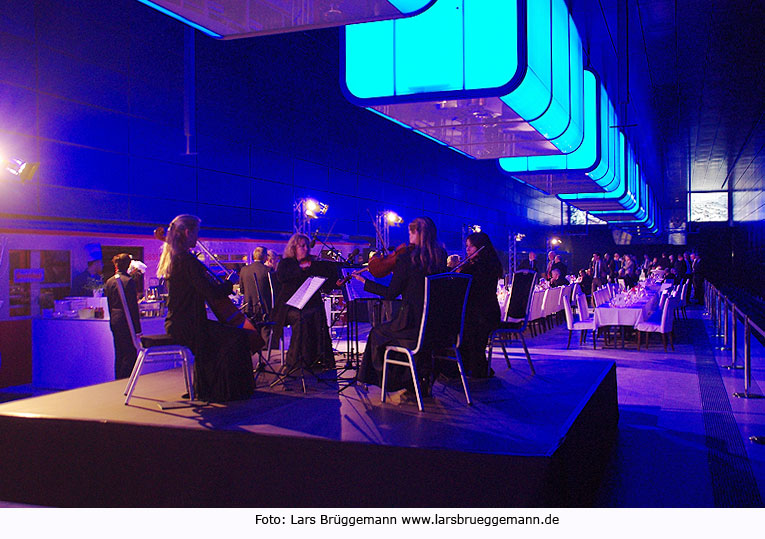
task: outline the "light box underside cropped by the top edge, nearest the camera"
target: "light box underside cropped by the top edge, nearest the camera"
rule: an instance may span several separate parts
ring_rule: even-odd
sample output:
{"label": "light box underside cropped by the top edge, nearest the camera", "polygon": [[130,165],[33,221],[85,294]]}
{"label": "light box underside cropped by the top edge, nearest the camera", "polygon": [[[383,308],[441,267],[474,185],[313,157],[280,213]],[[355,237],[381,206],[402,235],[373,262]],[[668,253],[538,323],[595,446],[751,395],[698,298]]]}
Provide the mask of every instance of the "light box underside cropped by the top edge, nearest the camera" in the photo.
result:
{"label": "light box underside cropped by the top edge, nearest the camera", "polygon": [[138,0],[222,39],[298,32],[414,15],[435,0]]}

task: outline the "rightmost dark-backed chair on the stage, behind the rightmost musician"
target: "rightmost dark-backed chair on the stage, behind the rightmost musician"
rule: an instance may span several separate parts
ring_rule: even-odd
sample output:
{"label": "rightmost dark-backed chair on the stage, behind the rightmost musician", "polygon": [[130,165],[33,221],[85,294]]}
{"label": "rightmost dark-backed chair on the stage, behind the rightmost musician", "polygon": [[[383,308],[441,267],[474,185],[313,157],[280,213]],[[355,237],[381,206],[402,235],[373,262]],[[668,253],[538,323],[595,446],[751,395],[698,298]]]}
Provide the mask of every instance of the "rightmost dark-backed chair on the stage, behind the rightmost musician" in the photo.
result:
{"label": "rightmost dark-backed chair on the stage, behind the rightmost musician", "polygon": [[494,356],[494,346],[499,344],[502,347],[502,353],[505,355],[507,368],[510,368],[510,357],[507,355],[505,343],[509,342],[514,335],[518,335],[523,345],[523,351],[526,353],[526,360],[529,362],[531,373],[536,374],[534,365],[531,363],[531,355],[526,346],[526,338],[523,332],[529,325],[529,319],[532,312],[532,299],[541,297],[541,293],[534,293],[534,286],[537,283],[537,274],[530,270],[519,270],[513,275],[513,288],[510,294],[510,303],[507,308],[505,318],[499,323],[499,327],[489,335],[489,366]]}

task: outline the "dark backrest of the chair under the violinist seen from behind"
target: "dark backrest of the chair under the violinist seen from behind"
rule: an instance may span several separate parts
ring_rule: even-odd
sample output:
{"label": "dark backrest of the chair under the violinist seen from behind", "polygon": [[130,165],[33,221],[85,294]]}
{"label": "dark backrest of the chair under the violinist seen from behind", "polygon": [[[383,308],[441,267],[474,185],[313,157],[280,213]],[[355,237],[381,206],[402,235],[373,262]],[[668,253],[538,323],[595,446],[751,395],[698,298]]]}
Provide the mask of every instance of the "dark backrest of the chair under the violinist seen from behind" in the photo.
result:
{"label": "dark backrest of the chair under the violinist seen from behind", "polygon": [[459,346],[472,277],[439,273],[425,277],[425,302],[414,353],[422,349]]}

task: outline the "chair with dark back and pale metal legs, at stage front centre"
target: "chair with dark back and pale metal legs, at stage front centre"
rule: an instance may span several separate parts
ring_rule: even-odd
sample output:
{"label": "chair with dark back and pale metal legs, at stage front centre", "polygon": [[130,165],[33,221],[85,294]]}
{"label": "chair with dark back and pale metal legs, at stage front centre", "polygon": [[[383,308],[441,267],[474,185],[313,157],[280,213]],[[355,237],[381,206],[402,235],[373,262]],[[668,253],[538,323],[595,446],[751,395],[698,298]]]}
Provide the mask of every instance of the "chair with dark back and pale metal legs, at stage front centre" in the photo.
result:
{"label": "chair with dark back and pale metal legs, at stage front centre", "polygon": [[[462,273],[440,273],[425,277],[425,301],[420,319],[420,331],[414,347],[409,348],[403,343],[385,347],[380,394],[382,402],[385,402],[387,393],[385,381],[388,365],[400,365],[409,368],[417,396],[417,407],[421,412],[423,411],[422,391],[415,362],[415,358],[420,355],[425,361],[432,361],[434,358],[456,361],[462,379],[462,388],[465,391],[465,400],[467,404],[473,403],[459,351],[471,280],[470,275]],[[394,359],[392,355],[394,353],[397,353],[399,357],[403,355],[406,359]]]}

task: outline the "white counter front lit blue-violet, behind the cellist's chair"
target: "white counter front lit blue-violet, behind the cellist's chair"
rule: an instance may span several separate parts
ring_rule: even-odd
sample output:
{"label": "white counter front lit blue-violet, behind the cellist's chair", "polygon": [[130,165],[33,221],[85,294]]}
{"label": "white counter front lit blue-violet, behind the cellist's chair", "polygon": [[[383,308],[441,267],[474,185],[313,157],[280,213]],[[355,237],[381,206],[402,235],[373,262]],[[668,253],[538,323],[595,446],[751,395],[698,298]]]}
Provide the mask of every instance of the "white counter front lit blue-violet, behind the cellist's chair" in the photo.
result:
{"label": "white counter front lit blue-violet, behind the cellist's chair", "polygon": [[[146,335],[165,332],[164,318],[143,318]],[[147,365],[144,372],[168,368]],[[114,380],[114,341],[108,320],[35,318],[32,320],[32,385],[74,389]]]}

